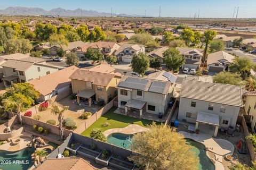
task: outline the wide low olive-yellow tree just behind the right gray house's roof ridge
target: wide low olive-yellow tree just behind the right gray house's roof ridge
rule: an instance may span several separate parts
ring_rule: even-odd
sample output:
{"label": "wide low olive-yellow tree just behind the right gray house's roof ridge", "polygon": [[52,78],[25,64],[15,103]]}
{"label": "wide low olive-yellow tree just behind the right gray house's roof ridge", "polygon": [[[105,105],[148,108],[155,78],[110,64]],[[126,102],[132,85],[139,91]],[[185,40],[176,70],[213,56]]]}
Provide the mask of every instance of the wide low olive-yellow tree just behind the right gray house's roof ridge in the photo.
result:
{"label": "wide low olive-yellow tree just behind the right gray house's roof ridge", "polygon": [[240,85],[241,76],[238,73],[220,72],[213,78],[213,82],[231,85]]}

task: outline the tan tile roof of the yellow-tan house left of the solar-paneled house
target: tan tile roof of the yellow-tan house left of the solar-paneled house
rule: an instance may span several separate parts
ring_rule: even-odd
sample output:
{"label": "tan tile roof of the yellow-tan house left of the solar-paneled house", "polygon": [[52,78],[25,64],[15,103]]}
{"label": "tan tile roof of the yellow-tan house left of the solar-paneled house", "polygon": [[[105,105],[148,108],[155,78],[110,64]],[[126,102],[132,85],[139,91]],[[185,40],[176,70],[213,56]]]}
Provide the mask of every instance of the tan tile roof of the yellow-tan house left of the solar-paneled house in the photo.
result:
{"label": "tan tile roof of the yellow-tan house left of the solar-paneled house", "polygon": [[77,69],[73,74],[70,75],[69,78],[81,81],[89,81],[99,86],[108,86],[108,84],[114,77],[115,74]]}

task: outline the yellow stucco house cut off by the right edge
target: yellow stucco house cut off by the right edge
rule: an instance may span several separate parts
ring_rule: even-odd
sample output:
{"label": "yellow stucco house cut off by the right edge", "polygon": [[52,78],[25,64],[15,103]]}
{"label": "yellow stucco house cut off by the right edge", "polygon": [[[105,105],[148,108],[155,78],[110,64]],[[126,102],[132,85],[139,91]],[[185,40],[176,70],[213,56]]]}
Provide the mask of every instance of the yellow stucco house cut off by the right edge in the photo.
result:
{"label": "yellow stucco house cut off by the right edge", "polygon": [[248,91],[243,94],[244,100],[244,117],[248,117],[250,119],[251,129],[254,133],[256,133],[256,92]]}

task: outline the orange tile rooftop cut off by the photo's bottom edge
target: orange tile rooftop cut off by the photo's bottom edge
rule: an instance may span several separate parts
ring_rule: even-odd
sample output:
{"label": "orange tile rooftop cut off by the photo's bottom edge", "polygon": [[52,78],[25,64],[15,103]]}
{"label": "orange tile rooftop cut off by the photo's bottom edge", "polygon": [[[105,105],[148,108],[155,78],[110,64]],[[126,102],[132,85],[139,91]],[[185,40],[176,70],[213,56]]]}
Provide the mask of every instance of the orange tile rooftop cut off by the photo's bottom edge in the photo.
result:
{"label": "orange tile rooftop cut off by the photo's bottom edge", "polygon": [[82,158],[46,159],[38,170],[96,170]]}

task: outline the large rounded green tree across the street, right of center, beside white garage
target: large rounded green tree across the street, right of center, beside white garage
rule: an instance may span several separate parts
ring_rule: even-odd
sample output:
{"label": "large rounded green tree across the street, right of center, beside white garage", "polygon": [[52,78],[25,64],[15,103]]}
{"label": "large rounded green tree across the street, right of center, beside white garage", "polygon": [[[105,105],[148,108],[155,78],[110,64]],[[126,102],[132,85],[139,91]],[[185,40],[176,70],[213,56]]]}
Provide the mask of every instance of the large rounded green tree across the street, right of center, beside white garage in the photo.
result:
{"label": "large rounded green tree across the street, right of center, beside white garage", "polygon": [[168,48],[164,53],[164,63],[167,69],[172,70],[172,73],[178,72],[179,67],[185,63],[185,57],[180,55],[180,52],[175,48]]}

